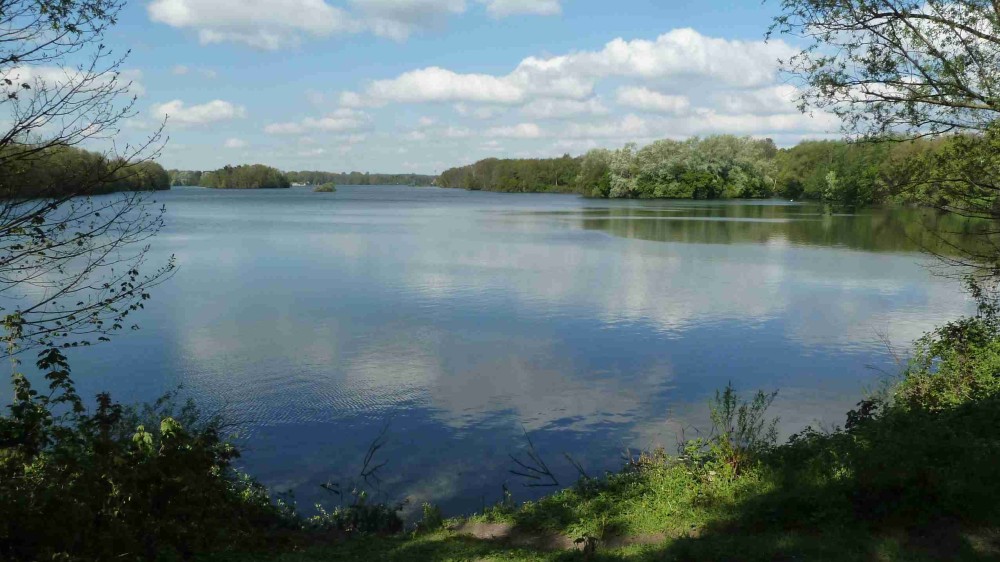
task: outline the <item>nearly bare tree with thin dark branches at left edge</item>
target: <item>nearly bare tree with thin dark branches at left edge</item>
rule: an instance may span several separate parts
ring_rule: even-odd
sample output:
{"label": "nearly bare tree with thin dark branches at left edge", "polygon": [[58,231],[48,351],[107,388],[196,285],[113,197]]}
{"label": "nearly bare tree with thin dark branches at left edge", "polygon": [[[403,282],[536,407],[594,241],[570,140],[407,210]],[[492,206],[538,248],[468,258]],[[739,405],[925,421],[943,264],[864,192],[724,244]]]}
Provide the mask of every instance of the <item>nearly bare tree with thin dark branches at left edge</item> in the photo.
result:
{"label": "nearly bare tree with thin dark branches at left edge", "polygon": [[[134,114],[125,56],[103,44],[120,0],[0,0],[0,356],[89,344],[121,329],[172,260],[140,273],[162,208],[139,192],[94,196],[149,173],[160,131],[115,141]],[[162,128],[161,128],[162,129]],[[108,146],[71,166],[53,153]],[[70,153],[66,153],[70,154]],[[34,189],[21,184],[32,175]]]}

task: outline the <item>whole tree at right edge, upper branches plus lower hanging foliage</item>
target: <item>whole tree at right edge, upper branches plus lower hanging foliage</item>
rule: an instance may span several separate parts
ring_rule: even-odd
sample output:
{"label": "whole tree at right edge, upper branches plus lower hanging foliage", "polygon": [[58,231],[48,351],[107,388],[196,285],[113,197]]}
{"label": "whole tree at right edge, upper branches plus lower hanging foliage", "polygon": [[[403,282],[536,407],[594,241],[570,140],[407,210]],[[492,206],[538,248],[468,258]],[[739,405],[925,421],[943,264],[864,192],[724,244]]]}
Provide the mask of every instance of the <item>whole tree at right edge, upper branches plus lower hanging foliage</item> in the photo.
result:
{"label": "whole tree at right edge, upper branches plus lower hanging foliage", "polygon": [[[809,44],[785,61],[804,110],[832,111],[861,139],[954,134],[911,189],[973,219],[952,263],[1000,280],[1000,2],[783,0],[771,32]],[[975,221],[980,221],[976,223]]]}

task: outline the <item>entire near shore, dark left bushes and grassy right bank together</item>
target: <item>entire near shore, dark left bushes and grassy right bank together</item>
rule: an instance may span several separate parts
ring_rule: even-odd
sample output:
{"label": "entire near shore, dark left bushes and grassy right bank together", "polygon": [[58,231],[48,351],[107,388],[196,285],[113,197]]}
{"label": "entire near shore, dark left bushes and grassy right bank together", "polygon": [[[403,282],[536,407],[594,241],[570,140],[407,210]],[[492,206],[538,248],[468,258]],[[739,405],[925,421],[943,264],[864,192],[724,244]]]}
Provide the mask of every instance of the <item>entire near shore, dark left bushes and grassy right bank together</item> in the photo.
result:
{"label": "entire near shore, dark left bushes and grassy right bank together", "polygon": [[[55,390],[71,388],[61,356],[42,365]],[[129,411],[105,396],[88,413],[72,392],[56,392],[73,407],[53,417],[45,394],[18,384],[0,418],[4,559],[1000,559],[992,301],[920,340],[899,380],[841,427],[778,444],[773,395],[742,399],[730,387],[710,406],[708,437],[679,451],[649,451],[619,472],[468,517],[445,521],[425,506],[415,529],[398,506],[370,503],[363,486],[336,489],[343,502],[330,511],[296,514],[233,470],[238,451],[220,420],[193,410]],[[538,457],[524,462],[544,471]]]}

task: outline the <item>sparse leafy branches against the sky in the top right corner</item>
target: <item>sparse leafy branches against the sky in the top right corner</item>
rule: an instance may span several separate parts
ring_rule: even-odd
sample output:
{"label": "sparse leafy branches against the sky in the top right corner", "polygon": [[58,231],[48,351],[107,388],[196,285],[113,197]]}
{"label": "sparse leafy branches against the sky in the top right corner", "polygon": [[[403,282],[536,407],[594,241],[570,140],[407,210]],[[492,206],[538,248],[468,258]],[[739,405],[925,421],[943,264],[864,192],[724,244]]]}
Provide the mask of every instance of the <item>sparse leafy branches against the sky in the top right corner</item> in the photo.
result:
{"label": "sparse leafy branches against the sky in the top right corner", "polygon": [[989,0],[783,0],[772,32],[804,107],[875,138],[982,131],[998,117],[1000,11]]}

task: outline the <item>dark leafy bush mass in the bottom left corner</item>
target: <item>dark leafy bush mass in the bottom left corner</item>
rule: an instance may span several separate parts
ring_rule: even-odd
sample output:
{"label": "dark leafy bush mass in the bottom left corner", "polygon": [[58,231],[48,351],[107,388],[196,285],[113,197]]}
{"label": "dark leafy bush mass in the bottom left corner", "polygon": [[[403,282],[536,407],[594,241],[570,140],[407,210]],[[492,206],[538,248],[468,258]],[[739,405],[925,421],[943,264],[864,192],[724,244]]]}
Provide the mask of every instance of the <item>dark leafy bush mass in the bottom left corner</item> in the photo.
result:
{"label": "dark leafy bush mass in the bottom left corner", "polygon": [[0,417],[0,557],[168,560],[267,541],[293,514],[232,468],[220,419],[173,397],[145,410],[101,394],[92,413],[58,350],[49,392],[15,376]]}

